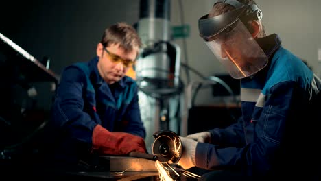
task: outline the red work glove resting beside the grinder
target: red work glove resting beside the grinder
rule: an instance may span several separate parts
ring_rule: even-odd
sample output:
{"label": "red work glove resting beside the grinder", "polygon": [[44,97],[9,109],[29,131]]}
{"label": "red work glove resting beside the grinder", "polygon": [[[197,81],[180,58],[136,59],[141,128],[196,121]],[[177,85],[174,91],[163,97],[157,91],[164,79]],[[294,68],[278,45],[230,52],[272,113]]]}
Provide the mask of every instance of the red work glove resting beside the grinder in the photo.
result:
{"label": "red work glove resting beside the grinder", "polygon": [[111,155],[126,155],[132,151],[147,153],[143,138],[126,132],[109,132],[102,125],[96,125],[93,130],[93,151]]}

